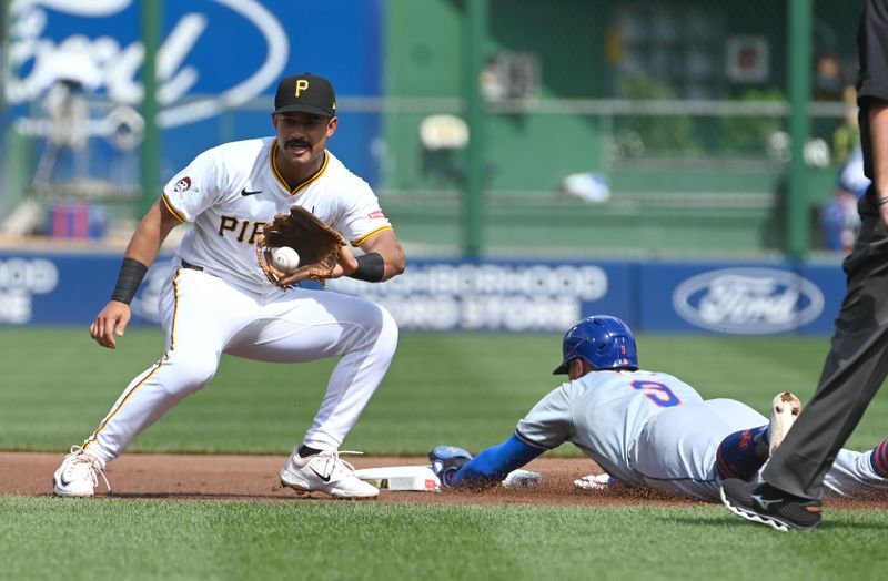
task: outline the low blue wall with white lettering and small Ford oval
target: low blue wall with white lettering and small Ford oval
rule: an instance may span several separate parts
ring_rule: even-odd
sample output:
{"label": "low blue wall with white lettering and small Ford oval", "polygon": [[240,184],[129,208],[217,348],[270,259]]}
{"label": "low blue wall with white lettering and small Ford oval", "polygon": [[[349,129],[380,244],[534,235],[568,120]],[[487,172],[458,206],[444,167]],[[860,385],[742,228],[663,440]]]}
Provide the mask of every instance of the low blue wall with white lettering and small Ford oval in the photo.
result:
{"label": "low blue wall with white lettering and small Ford oval", "polygon": [[[149,271],[134,324],[158,324],[169,263]],[[0,324],[88,325],[119,265],[120,256],[0,252]],[[382,304],[402,330],[563,333],[606,313],[642,333],[829,334],[845,276],[838,264],[426,258],[387,283],[329,288]]]}

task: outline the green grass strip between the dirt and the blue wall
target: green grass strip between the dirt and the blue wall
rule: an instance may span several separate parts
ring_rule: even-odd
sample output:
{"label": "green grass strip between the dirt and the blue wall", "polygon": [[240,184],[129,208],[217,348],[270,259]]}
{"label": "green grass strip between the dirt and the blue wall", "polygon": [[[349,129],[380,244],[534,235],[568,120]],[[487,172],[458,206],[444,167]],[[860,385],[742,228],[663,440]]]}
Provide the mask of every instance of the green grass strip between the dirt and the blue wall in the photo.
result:
{"label": "green grass strip between the dirt and the blue wall", "polygon": [[[82,329],[0,329],[0,449],[59,451],[82,441],[129,380],[162,351],[157,329],[127,333],[117,350]],[[555,335],[405,334],[389,374],[345,447],[422,455],[437,444],[478,449],[505,439],[562,377]],[[828,340],[639,336],[646,369],[672,373],[707,398],[766,412],[778,391],[807,400]],[[36,353],[42,355],[36,356]],[[284,453],[317,411],[332,360],[260,364],[223,357],[213,381],[134,441],[133,451]],[[767,414],[765,414],[767,415]],[[888,437],[888,393],[848,446]],[[566,446],[557,453],[576,453]]]}

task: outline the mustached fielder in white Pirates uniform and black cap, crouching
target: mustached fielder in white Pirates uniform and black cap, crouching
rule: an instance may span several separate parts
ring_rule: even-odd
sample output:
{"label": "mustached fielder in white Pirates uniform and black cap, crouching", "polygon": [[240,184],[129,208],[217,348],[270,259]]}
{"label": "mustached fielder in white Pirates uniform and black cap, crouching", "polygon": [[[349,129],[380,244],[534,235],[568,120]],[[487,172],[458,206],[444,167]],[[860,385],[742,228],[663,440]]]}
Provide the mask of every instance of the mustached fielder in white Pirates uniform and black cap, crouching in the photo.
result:
{"label": "mustached fielder in white Pirates uniform and black cap, crouching", "polygon": [[192,223],[161,295],[165,351],[130,383],[84,444],[72,448],[54,473],[56,495],[93,495],[105,465],[204,387],[223,353],[275,363],[341,357],[281,482],[334,497],[379,493],[353,476],[339,448],[389,368],[395,322],[361,298],[280,288],[256,259],[263,224],[300,205],[363,251],[355,257],[344,249],[333,278],[381,282],[404,271],[404,253],[373,191],[326,150],[335,113],[329,81],[309,73],[285,77],[272,113],[275,136],[205,151],[165,185],[130,241],[111,302],[90,326],[95,342],[115,347],[130,320],[130,300],[162,242],[176,225]]}

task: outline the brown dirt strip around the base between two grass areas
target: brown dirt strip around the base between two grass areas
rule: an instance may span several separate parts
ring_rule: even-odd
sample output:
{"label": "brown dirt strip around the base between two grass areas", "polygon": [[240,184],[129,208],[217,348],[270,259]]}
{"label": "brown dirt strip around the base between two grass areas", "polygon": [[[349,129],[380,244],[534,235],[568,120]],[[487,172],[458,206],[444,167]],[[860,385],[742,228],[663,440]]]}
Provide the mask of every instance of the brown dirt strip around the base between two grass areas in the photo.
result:
{"label": "brown dirt strip around the base between two grass areas", "polygon": [[[0,452],[0,495],[50,496],[52,472],[63,455]],[[159,498],[203,500],[329,501],[323,493],[296,495],[282,487],[278,472],[283,456],[194,456],[128,453],[109,465],[112,491],[100,482],[98,498]],[[424,458],[349,457],[355,468],[422,465]],[[639,503],[694,504],[693,500],[669,498],[648,490],[584,491],[574,488],[574,479],[602,470],[585,459],[539,458],[525,467],[543,475],[542,490],[484,492],[444,490],[443,492],[382,492],[380,502],[422,504],[555,504],[627,506]],[[830,500],[836,508],[875,508],[888,510],[888,498],[868,501]]]}

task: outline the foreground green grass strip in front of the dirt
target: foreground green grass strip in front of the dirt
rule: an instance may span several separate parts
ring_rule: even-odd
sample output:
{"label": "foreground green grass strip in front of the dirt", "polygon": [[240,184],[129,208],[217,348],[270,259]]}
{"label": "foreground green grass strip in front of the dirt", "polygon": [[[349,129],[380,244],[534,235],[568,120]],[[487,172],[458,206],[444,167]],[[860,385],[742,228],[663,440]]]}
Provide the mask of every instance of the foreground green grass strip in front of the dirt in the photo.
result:
{"label": "foreground green grass strip in front of the dirt", "polygon": [[[881,514],[817,533],[687,508],[0,497],[7,579],[880,579]],[[654,533],[653,531],[656,531]],[[39,564],[38,564],[39,563]]]}

